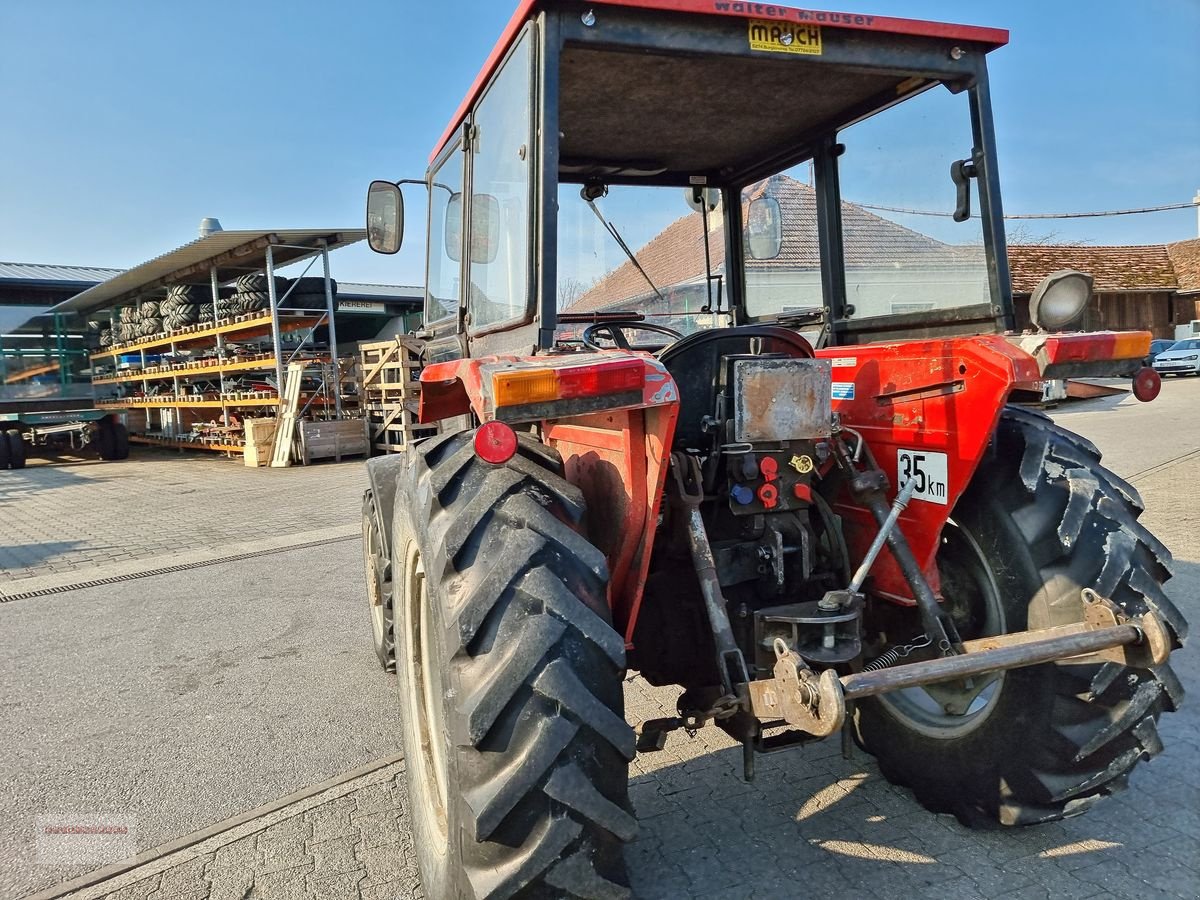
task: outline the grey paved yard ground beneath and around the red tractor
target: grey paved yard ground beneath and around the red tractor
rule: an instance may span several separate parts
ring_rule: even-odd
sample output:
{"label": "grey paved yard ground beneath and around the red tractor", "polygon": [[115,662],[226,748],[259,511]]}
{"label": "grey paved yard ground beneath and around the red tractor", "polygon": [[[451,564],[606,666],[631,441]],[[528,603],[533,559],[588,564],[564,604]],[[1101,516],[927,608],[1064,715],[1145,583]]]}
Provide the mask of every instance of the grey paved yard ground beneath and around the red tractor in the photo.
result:
{"label": "grey paved yard ground beneath and around the red tractor", "polygon": [[[1193,623],[1200,623],[1198,404],[1200,379],[1169,380],[1153,404],[1100,401],[1055,414],[1097,442],[1108,464],[1142,492],[1142,521],[1175,553],[1168,593]],[[154,510],[202,522],[202,510],[220,498],[241,516],[226,532],[228,545],[257,539],[256,521],[277,523],[282,536],[252,557],[0,602],[8,649],[0,658],[0,734],[14,736],[0,754],[0,896],[52,888],[118,860],[68,866],[46,858],[47,815],[124,816],[134,824],[124,854],[132,856],[396,750],[394,682],[370,653],[359,548],[348,539],[361,463],[263,473],[148,456],[126,476],[119,467],[103,478],[90,468],[78,474],[100,481],[108,508],[88,520],[91,532],[40,494],[77,505],[95,493],[61,473],[0,474],[6,526],[32,535],[38,526],[25,521],[29,510],[53,514],[59,541],[71,545],[41,564],[30,560],[20,580],[0,580],[0,590],[20,595],[22,583],[86,577],[96,563],[85,545],[114,540],[134,556],[103,565],[157,571],[169,557],[155,550],[164,529],[133,521]],[[5,481],[14,475],[16,488]],[[130,484],[148,479],[160,487]],[[187,493],[166,491],[167,480]],[[222,550],[220,518],[212,521],[196,529],[203,539],[190,552],[200,562],[206,552],[236,556]],[[106,530],[106,522],[116,524]],[[308,547],[302,535],[314,528],[343,539]],[[7,544],[7,527],[2,534]],[[288,550],[288,535],[305,547]],[[47,571],[50,559],[61,571]],[[1194,643],[1172,660],[1184,685],[1200,683]],[[673,704],[673,691],[637,677],[626,684],[632,721],[667,715]],[[1139,767],[1130,791],[1079,818],[986,833],[925,812],[870,757],[842,760],[836,743],[760,757],[756,781],[745,785],[740,751],[720,732],[672,734],[664,752],[638,757],[631,770],[641,821],[626,853],[635,895],[1198,898],[1196,701],[1165,716],[1160,733],[1165,751]],[[204,835],[76,895],[421,896],[401,768]]]}

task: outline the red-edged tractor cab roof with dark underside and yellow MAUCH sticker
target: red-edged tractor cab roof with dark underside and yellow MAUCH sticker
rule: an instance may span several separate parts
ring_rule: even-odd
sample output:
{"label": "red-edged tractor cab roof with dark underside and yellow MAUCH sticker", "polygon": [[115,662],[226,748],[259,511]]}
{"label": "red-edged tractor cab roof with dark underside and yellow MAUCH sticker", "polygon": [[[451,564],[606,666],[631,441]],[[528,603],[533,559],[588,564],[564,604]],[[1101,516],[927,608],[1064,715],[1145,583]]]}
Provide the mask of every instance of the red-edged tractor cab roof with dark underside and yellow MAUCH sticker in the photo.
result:
{"label": "red-edged tractor cab roof with dark underside and yellow MAUCH sticker", "polygon": [[563,13],[545,78],[559,175],[575,181],[746,184],[931,85],[967,86],[1008,42],[1001,29],[733,0],[521,0],[431,161],[542,11]]}

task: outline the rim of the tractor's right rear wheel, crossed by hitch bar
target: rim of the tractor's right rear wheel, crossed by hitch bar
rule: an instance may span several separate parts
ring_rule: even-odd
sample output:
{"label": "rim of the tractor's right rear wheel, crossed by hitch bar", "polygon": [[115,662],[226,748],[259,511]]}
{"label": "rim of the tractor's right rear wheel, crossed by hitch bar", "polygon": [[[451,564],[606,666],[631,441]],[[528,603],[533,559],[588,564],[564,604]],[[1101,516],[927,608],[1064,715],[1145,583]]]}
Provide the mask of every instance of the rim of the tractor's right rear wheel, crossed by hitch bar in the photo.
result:
{"label": "rim of the tractor's right rear wheel, crossed by hitch bar", "polygon": [[[943,593],[964,640],[1007,634],[1000,587],[986,556],[961,526],[948,520],[937,557]],[[953,598],[953,600],[952,600]],[[880,695],[880,702],[908,728],[941,740],[961,738],[980,727],[1000,702],[1004,673],[982,676],[964,689],[953,685],[907,688]],[[948,712],[946,704],[965,708]]]}

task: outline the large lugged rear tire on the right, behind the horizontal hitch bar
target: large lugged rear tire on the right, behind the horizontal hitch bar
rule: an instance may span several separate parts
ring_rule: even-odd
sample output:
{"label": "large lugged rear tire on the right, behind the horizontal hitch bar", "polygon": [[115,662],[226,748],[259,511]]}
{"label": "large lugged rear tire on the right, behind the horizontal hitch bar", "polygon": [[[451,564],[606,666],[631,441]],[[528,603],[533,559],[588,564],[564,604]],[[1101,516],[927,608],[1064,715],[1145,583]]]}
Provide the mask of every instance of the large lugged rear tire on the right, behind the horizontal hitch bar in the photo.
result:
{"label": "large lugged rear tire on the right, behind the horizontal hitch bar", "polygon": [[[1078,623],[1091,588],[1128,614],[1157,613],[1182,643],[1187,623],[1162,588],[1170,553],[1141,510],[1090,442],[1006,409],[938,552],[964,638]],[[854,726],[886,778],[973,826],[1084,812],[1159,752],[1158,718],[1183,700],[1169,665],[1063,660],[965,686],[970,703],[944,685],[863,701]]]}

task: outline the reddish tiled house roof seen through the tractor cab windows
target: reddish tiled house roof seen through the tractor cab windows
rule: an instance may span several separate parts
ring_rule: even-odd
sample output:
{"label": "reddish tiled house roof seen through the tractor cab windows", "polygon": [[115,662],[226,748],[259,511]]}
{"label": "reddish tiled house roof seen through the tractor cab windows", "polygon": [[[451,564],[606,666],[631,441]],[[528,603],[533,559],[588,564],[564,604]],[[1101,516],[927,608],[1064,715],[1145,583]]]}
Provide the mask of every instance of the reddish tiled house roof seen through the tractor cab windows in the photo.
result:
{"label": "reddish tiled house roof seen through the tractor cab windows", "polygon": [[[774,175],[749,188],[746,203],[760,197],[774,197],[784,218],[784,244],[774,259],[748,259],[746,270],[820,268],[817,242],[816,193],[805,184]],[[743,208],[745,211],[745,206]],[[743,216],[745,218],[745,216]],[[714,271],[725,264],[725,235],[721,221],[709,221],[709,247]],[[980,256],[983,247],[956,247],[910,230],[862,206],[842,203],[846,268],[904,265],[918,260],[922,268],[960,264],[964,256]],[[700,214],[690,214],[667,226],[635,254],[647,275],[660,289],[700,281],[704,276],[704,236]],[[632,263],[608,272],[590,290],[570,306],[571,312],[590,312],[610,305],[650,294],[650,287]]]}

